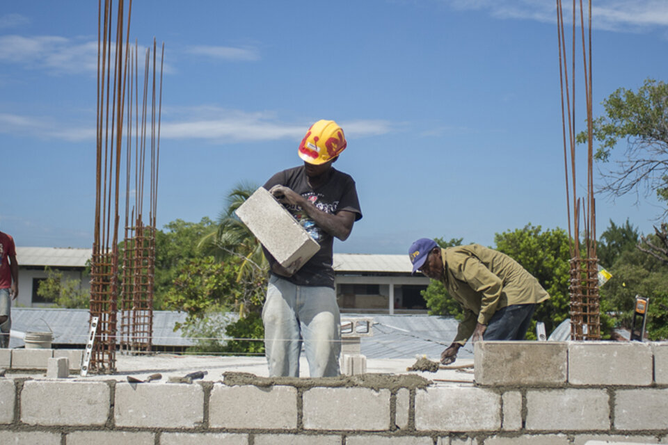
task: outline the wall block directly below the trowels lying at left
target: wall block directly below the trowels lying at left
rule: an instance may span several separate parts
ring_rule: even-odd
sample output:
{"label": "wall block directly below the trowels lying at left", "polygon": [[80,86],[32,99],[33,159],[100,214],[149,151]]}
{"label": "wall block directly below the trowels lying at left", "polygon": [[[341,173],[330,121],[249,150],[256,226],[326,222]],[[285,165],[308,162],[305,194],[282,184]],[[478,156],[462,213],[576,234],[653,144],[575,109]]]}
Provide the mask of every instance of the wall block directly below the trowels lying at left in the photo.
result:
{"label": "wall block directly below the trowels lying at left", "polygon": [[200,385],[116,384],[116,426],[195,428],[204,421],[204,389]]}

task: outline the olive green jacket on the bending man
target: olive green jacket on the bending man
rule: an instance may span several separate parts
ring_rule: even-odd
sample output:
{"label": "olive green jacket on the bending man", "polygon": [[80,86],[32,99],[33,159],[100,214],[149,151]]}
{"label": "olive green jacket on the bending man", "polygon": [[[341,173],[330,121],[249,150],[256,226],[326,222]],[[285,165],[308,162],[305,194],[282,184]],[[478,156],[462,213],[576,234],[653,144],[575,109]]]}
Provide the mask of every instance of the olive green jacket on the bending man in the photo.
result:
{"label": "olive green jacket on the bending man", "polygon": [[476,323],[486,325],[494,313],[510,305],[550,298],[538,280],[506,254],[479,244],[441,249],[441,282],[464,309],[454,343],[463,345]]}

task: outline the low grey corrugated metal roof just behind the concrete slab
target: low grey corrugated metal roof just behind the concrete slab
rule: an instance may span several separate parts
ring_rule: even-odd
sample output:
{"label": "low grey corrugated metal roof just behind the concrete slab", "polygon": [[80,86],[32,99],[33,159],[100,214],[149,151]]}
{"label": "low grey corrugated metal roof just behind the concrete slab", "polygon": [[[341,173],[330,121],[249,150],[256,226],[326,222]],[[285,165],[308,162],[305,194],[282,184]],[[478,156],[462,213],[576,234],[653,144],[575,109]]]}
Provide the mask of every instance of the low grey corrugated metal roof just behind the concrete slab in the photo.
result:
{"label": "low grey corrugated metal roof just behind the concrete slab", "polygon": [[[174,323],[183,322],[186,314],[169,311],[153,313],[153,344],[156,346],[191,346],[193,340],[174,332]],[[234,319],[234,314],[227,314]],[[458,322],[452,317],[428,315],[344,314],[344,318],[372,317],[373,336],[362,337],[361,353],[373,359],[413,358],[427,355],[440,357],[457,332]],[[54,332],[54,343],[82,345],[88,339],[87,309],[12,308],[12,330],[19,332]],[[10,348],[21,348],[23,341],[11,337]],[[472,347],[459,350],[459,358],[471,358]]]}

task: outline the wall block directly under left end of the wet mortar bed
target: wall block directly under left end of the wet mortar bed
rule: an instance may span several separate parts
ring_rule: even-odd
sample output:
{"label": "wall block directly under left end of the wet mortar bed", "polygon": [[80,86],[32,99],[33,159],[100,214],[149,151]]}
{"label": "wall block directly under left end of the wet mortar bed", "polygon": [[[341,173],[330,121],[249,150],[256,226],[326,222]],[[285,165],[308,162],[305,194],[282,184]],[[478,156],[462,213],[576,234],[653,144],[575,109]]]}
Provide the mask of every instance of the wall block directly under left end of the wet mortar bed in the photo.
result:
{"label": "wall block directly under left end of the wet mortar bed", "polygon": [[[267,407],[271,407],[270,410]],[[216,384],[209,399],[212,428],[297,428],[297,389]]]}

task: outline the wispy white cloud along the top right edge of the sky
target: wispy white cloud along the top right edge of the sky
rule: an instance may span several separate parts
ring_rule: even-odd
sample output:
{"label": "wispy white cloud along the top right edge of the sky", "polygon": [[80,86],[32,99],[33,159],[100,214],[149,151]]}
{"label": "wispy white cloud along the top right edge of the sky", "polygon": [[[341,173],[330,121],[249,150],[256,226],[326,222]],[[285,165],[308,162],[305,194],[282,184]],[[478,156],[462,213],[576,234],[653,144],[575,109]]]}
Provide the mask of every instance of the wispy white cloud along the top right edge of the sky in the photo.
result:
{"label": "wispy white cloud along the top right edge of the sky", "polygon": [[[443,0],[458,10],[482,10],[500,19],[528,19],[556,22],[557,6],[549,0]],[[563,0],[564,21],[570,23],[572,1]],[[580,1],[576,2],[579,21]],[[587,20],[588,2],[583,2]],[[592,5],[592,26],[608,31],[640,32],[668,26],[668,1],[665,0],[606,0]]]}

